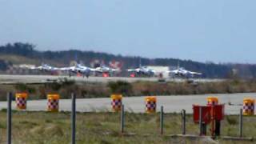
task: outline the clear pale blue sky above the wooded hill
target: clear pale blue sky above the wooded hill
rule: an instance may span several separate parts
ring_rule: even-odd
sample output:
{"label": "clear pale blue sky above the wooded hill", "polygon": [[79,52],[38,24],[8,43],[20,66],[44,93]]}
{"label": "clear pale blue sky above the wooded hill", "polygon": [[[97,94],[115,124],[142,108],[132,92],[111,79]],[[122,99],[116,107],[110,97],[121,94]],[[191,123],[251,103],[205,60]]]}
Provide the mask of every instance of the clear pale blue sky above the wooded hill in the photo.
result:
{"label": "clear pale blue sky above the wooded hill", "polygon": [[0,45],[256,63],[255,0],[0,0]]}

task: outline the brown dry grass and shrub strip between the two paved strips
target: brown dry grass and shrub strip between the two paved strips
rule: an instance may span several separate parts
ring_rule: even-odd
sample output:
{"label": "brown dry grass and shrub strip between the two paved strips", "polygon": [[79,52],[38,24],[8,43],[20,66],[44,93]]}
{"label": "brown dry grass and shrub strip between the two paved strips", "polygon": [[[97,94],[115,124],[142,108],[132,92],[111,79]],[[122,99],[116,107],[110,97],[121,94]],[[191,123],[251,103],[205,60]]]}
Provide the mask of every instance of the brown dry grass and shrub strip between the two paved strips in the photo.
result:
{"label": "brown dry grass and shrub strip between the two paved strips", "polygon": [[[113,83],[112,83],[113,84]],[[111,85],[98,82],[85,82],[77,84],[72,81],[63,80],[58,83],[44,85],[16,86],[0,85],[0,100],[6,100],[6,93],[9,91],[26,91],[30,99],[44,99],[46,94],[58,93],[62,98],[70,98],[71,92],[76,92],[78,98],[107,98],[111,91],[120,91],[122,95],[182,95],[182,94],[231,94],[256,92],[256,81],[227,80],[224,82],[199,82],[197,85],[187,82],[117,82],[114,83],[114,90]]]}

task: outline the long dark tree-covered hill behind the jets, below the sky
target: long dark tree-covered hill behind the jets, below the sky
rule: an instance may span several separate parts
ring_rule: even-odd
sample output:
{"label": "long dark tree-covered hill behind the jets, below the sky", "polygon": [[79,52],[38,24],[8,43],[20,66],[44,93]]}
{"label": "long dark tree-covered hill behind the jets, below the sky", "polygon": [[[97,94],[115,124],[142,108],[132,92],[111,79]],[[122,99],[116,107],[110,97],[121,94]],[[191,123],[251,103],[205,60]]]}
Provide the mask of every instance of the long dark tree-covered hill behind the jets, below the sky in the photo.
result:
{"label": "long dark tree-covered hill behind the jets, below the sky", "polygon": [[187,70],[202,72],[204,78],[226,78],[234,69],[240,77],[256,77],[256,65],[249,64],[203,63],[176,58],[140,58],[81,50],[38,51],[35,50],[34,45],[22,42],[8,43],[5,46],[0,46],[1,70],[6,70],[4,65],[23,63],[40,65],[42,62],[45,62],[54,66],[68,66],[74,60],[82,62],[86,66],[90,66],[90,62],[94,60],[100,60],[105,64],[108,64],[110,61],[118,61],[122,62],[122,69],[125,70],[130,67],[138,67],[140,59],[144,66],[177,66],[179,62],[180,66],[185,67]]}

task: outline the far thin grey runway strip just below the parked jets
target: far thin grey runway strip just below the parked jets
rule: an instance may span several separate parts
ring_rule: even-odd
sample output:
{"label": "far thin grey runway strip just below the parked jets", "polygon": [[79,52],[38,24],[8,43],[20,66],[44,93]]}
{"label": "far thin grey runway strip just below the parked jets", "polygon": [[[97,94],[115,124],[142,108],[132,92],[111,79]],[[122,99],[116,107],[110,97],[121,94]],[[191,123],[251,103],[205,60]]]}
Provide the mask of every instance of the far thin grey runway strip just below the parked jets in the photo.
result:
{"label": "far thin grey runway strip just below the parked jets", "polygon": [[[56,76],[56,75],[0,75],[0,84],[11,84],[11,83],[45,83],[45,82],[53,82],[60,81],[62,79],[74,80],[75,82],[111,82],[111,81],[126,81],[126,82],[136,82],[136,81],[150,81],[150,82],[158,82],[158,78],[126,78],[126,77],[68,77],[68,76]],[[222,81],[222,79],[193,79],[194,82],[218,82]],[[167,82],[184,82],[186,79],[179,78],[167,78]]]}

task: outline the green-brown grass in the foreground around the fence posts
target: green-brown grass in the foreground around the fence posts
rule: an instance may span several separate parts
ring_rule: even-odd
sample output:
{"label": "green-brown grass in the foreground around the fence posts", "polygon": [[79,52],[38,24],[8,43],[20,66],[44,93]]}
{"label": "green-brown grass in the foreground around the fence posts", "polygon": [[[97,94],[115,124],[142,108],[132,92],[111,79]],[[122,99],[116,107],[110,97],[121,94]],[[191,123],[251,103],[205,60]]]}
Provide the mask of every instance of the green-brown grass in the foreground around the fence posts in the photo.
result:
{"label": "green-brown grass in the foreground around the fence posts", "polygon": [[[229,116],[238,119],[238,116]],[[242,141],[213,141],[211,139],[170,138],[168,134],[181,134],[180,114],[165,114],[165,136],[159,135],[159,114],[126,113],[126,133],[138,134],[122,137],[118,113],[78,113],[78,143],[239,143]],[[256,135],[256,117],[245,117],[244,134]],[[6,141],[6,112],[0,112],[0,143]],[[209,133],[209,132],[208,132]],[[70,143],[70,113],[14,112],[13,143]],[[145,134],[149,134],[146,136]],[[198,134],[198,125],[187,116],[187,134]],[[222,122],[222,135],[238,136],[238,125]],[[245,143],[254,143],[246,142]]]}

